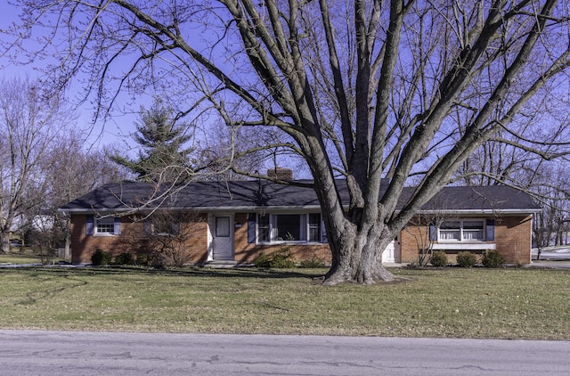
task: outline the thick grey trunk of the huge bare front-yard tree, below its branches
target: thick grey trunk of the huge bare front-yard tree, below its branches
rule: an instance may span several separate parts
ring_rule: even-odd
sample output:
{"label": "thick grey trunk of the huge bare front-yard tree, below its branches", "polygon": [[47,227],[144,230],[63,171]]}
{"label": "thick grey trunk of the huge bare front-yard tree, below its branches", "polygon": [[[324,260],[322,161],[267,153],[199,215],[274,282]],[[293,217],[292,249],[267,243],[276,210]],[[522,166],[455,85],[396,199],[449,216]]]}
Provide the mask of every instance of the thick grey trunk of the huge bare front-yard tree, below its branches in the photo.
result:
{"label": "thick grey trunk of the huge bare front-yard tree, below its branches", "polygon": [[381,232],[376,226],[358,232],[355,225],[346,223],[342,236],[330,244],[332,266],[323,284],[374,284],[397,280],[398,277],[382,265],[382,253],[393,240],[389,233]]}

